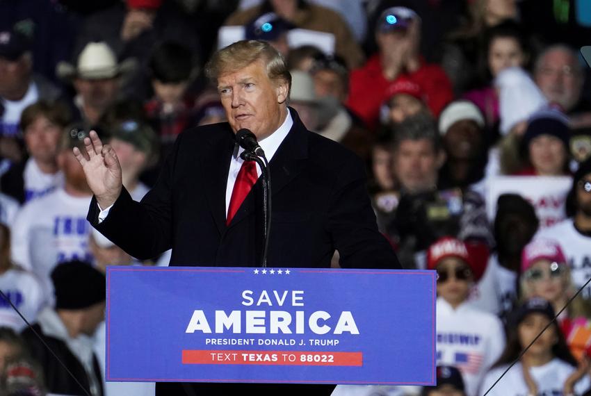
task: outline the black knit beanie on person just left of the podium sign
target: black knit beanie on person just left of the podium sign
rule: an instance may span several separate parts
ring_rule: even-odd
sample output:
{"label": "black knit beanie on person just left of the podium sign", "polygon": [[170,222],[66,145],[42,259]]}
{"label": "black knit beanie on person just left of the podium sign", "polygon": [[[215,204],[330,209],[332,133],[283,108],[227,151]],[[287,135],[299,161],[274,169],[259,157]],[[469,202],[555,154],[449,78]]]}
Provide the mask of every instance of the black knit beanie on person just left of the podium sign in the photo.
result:
{"label": "black knit beanie on person just left of the podium sign", "polygon": [[90,263],[74,260],[58,264],[51,280],[56,309],[83,309],[106,299],[105,276]]}

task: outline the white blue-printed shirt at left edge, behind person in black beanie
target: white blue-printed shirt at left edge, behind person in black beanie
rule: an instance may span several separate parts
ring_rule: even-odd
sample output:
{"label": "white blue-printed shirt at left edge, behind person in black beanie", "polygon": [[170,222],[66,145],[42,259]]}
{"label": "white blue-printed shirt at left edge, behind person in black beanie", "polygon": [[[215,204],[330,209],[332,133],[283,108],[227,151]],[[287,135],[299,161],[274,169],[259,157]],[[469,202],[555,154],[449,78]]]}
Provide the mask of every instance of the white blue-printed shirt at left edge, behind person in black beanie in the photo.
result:
{"label": "white blue-printed shirt at left edge, behind person in black beanie", "polygon": [[[39,279],[31,272],[20,268],[13,267],[0,274],[0,290],[29,323],[35,322],[37,314],[47,303],[44,288]],[[5,299],[0,298],[0,327],[3,326],[20,332],[26,327],[26,323]]]}

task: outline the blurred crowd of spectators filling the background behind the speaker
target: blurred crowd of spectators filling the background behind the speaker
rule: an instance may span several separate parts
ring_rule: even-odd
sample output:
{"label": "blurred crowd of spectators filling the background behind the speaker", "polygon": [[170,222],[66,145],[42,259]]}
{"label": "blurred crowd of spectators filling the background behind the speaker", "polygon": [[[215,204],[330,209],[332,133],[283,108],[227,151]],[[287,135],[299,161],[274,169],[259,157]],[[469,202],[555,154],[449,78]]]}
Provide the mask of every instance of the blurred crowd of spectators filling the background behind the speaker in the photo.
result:
{"label": "blurred crowd of spectators filling the background behind the speaker", "polygon": [[0,395],[154,394],[104,381],[104,273],[170,251],[139,260],[92,229],[72,149],[97,131],[141,200],[182,131],[225,121],[203,69],[242,39],[280,51],[289,106],[364,160],[403,267],[437,271],[437,386],[334,395],[591,395],[576,0],[0,2]]}

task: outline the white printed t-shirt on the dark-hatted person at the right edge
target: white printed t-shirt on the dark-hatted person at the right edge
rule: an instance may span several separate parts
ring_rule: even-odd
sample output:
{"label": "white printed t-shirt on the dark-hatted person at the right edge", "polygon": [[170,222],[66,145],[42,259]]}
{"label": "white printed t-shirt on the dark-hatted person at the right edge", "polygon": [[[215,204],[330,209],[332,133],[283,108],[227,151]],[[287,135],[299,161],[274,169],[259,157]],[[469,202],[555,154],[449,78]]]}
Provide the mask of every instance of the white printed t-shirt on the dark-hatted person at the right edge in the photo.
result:
{"label": "white printed t-shirt on the dark-hatted person at the right edge", "polygon": [[[571,269],[572,281],[581,287],[591,278],[591,237],[576,231],[572,219],[564,220],[538,232],[534,239],[556,240],[564,252]],[[585,299],[591,299],[591,286],[581,292]]]}

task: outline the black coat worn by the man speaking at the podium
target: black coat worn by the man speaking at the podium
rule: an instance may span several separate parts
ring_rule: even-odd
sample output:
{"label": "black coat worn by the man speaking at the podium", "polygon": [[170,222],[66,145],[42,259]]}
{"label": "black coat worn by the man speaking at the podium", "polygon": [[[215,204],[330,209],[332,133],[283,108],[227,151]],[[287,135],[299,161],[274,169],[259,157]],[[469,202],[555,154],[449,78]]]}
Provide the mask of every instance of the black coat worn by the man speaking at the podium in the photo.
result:
{"label": "black coat worn by the man speaking at the podium", "polygon": [[[362,160],[308,131],[290,110],[293,127],[269,163],[273,215],[268,266],[330,267],[337,249],[343,267],[399,268],[389,242],[378,232]],[[229,226],[225,223],[235,144],[227,123],[181,133],[159,180],[141,203],[123,190],[98,224],[99,210],[92,199],[88,220],[137,258],[152,258],[172,247],[170,265],[259,266],[262,178]],[[263,388],[275,389],[269,394],[281,392],[275,386]],[[319,388],[323,390],[318,395],[330,394]],[[211,386],[207,389],[196,394],[212,394]],[[309,393],[308,388],[304,391]]]}

